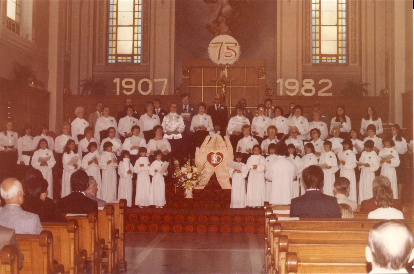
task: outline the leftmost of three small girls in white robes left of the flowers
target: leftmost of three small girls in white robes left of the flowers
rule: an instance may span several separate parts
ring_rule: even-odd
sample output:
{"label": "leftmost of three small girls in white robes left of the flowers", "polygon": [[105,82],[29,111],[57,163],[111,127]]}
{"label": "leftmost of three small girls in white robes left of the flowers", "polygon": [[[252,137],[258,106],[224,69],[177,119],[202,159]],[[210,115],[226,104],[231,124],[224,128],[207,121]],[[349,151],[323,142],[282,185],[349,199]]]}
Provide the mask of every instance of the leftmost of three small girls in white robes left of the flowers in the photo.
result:
{"label": "leftmost of three small girls in white robes left of the flowers", "polygon": [[118,165],[118,202],[120,199],[127,200],[127,207],[132,206],[132,170],[134,167],[130,161],[130,154],[128,150],[121,152],[121,161]]}

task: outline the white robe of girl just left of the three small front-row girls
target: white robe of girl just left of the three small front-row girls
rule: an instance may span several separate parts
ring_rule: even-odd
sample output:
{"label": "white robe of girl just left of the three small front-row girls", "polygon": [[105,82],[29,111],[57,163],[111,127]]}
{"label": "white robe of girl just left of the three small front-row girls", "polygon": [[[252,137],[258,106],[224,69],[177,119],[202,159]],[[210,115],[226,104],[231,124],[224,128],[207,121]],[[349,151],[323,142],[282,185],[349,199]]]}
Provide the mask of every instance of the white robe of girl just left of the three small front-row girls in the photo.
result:
{"label": "white robe of girl just left of the three small front-row girls", "polygon": [[[99,160],[99,167],[102,168],[102,199],[106,202],[116,201],[116,167],[118,163],[113,161],[112,155],[114,155],[112,152],[104,151],[101,160]],[[109,160],[112,162],[107,164]]]}

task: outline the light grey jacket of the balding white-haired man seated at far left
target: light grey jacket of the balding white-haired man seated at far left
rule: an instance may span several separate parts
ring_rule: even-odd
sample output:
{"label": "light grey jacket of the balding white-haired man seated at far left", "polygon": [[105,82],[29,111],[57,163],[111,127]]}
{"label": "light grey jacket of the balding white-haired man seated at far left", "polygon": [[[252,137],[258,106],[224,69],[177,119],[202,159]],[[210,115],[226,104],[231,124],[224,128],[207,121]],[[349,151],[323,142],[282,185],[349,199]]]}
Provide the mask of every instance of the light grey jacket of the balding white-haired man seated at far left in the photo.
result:
{"label": "light grey jacket of the balding white-haired man seated at far left", "polygon": [[40,234],[39,216],[24,211],[18,204],[6,204],[0,210],[0,226],[14,228],[17,234]]}

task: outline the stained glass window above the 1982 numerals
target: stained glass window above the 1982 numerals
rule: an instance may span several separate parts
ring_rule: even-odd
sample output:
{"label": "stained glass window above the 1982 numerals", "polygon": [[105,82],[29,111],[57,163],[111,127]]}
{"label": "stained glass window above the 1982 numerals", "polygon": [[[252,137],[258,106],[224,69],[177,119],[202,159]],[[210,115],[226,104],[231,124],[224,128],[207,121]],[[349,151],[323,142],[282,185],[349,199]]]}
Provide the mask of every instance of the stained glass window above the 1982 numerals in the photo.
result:
{"label": "stained glass window above the 1982 numerals", "polygon": [[312,0],[312,62],[346,64],[346,0]]}

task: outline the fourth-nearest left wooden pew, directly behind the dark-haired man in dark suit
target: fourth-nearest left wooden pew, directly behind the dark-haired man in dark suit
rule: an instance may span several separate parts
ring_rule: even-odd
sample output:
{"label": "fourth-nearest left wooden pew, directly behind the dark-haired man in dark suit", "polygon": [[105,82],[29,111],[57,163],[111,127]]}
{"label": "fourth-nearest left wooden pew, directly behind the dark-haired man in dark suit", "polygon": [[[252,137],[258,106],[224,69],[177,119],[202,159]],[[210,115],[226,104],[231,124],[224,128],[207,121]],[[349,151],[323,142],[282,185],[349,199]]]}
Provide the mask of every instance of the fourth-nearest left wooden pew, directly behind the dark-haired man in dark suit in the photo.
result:
{"label": "fourth-nearest left wooden pew, directly behind the dark-haired man in dark suit", "polygon": [[87,250],[92,274],[102,273],[102,250],[105,242],[99,238],[98,214],[66,215],[67,220],[75,219],[79,224],[79,248]]}

